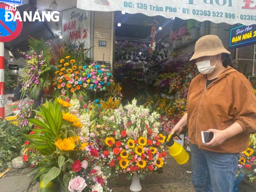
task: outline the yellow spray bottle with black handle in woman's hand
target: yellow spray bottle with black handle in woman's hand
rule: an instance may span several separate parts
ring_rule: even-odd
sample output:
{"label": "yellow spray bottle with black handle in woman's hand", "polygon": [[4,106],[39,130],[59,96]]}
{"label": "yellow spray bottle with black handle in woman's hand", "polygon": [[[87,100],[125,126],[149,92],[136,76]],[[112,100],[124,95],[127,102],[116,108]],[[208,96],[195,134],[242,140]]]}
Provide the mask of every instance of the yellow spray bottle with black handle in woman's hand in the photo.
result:
{"label": "yellow spray bottle with black handle in woman's hand", "polygon": [[[173,137],[178,137],[178,135],[176,133],[173,135],[170,134],[166,139],[166,145],[169,149],[169,153],[178,164],[185,164],[189,161],[189,154],[181,144],[178,144],[173,140]],[[180,137],[178,138],[181,139]]]}

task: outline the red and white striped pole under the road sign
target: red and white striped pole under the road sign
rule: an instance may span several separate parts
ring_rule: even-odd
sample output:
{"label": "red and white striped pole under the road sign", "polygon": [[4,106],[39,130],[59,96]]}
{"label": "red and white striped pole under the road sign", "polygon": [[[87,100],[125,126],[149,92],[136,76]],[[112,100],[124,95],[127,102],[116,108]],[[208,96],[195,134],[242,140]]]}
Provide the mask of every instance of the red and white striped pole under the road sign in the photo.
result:
{"label": "red and white striped pole under the road sign", "polygon": [[4,118],[4,44],[0,42],[0,117]]}

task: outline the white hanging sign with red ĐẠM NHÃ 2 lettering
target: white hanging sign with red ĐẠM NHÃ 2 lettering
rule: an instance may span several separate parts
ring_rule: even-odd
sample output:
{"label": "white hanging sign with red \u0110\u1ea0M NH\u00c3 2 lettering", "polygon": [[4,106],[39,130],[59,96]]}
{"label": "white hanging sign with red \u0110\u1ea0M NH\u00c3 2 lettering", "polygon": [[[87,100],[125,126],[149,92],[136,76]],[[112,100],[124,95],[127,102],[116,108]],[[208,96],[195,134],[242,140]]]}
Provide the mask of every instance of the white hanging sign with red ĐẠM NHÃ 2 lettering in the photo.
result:
{"label": "white hanging sign with red \u0110\u1ea0M NH\u00c3 2 lettering", "polygon": [[90,48],[90,24],[90,11],[73,8],[62,12],[62,36],[69,38],[74,48],[78,48],[79,42]]}

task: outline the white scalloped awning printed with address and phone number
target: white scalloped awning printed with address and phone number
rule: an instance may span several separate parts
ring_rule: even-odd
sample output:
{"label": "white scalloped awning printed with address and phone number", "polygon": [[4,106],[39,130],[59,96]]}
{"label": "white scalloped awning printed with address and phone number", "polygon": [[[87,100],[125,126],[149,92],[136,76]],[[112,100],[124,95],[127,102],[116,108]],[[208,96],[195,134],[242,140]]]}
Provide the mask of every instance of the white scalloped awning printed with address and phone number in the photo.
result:
{"label": "white scalloped awning printed with address and phone number", "polygon": [[208,20],[215,23],[256,23],[256,0],[77,0],[77,7],[93,11],[119,10],[147,16]]}

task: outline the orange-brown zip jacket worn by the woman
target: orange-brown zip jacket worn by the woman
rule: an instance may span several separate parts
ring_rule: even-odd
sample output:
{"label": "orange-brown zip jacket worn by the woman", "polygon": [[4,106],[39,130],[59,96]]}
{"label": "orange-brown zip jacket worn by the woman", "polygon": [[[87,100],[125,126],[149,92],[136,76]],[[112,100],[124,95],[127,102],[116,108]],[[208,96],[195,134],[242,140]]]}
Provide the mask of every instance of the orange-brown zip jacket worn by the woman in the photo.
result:
{"label": "orange-brown zip jacket worn by the woman", "polygon": [[[250,133],[256,133],[256,97],[246,77],[227,67],[207,88],[206,75],[196,76],[187,97],[187,125],[192,144],[220,153],[239,153],[247,149]],[[202,144],[201,131],[225,130],[234,122],[243,132],[217,147]]]}

